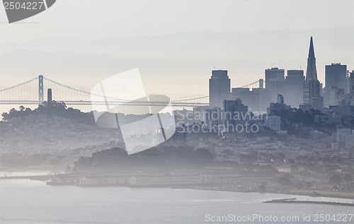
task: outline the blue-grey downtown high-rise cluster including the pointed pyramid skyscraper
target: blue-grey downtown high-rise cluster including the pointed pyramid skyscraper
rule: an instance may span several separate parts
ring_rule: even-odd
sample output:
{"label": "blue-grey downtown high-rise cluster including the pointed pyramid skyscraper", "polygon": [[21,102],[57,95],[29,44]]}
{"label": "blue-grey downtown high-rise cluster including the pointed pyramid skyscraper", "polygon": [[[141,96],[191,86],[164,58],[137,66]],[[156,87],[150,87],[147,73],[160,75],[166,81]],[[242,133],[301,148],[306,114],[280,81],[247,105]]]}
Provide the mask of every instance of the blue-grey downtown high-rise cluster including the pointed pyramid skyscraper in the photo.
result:
{"label": "blue-grey downtown high-rise cluster including the pointed pyramid skyscraper", "polygon": [[[212,71],[210,78],[210,107],[223,107],[223,100],[240,98],[251,111],[264,111],[270,102],[276,102],[278,95],[285,98],[291,107],[324,110],[324,107],[343,105],[341,96],[354,93],[354,71],[340,63],[326,65],[326,85],[317,78],[314,43],[311,37],[307,71],[287,70],[276,67],[265,69],[265,81],[259,80],[258,88],[231,88],[227,71]],[[263,86],[265,83],[265,87]],[[230,91],[231,90],[231,91]],[[345,104],[345,103],[344,103]]]}

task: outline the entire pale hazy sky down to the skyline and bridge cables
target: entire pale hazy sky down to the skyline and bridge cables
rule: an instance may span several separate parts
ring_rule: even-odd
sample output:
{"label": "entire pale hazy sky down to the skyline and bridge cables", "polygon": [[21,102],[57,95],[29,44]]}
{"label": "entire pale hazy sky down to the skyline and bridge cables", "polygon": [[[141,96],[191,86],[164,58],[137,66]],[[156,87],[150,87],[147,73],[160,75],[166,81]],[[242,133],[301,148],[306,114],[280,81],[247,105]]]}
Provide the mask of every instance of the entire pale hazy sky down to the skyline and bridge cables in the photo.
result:
{"label": "entire pale hazy sky down to the skyline and bridge cables", "polygon": [[0,89],[39,73],[90,90],[139,68],[147,90],[207,95],[213,67],[232,86],[264,69],[306,68],[314,36],[319,79],[332,62],[354,69],[354,1],[57,0],[8,24],[0,7]]}

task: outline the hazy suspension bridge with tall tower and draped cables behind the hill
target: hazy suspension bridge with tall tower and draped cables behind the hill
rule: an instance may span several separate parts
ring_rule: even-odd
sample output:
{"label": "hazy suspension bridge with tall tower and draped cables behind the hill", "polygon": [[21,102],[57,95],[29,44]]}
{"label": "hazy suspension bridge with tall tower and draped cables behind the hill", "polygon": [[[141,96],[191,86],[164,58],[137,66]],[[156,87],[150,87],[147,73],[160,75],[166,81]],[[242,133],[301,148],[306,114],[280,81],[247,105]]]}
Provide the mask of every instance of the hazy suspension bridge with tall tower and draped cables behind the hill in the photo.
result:
{"label": "hazy suspension bridge with tall tower and draped cables behind the hill", "polygon": [[[242,86],[246,88],[254,86],[258,81]],[[65,102],[66,105],[149,105],[163,106],[169,102],[146,102],[146,101],[130,101],[118,98],[105,98],[101,95],[97,97],[104,98],[101,101],[92,101],[92,93],[73,88],[63,83],[58,83],[45,76],[38,76],[29,81],[4,88],[0,90],[0,105],[40,105],[45,102],[45,92],[52,89],[54,93],[53,100],[57,102]],[[171,105],[175,107],[197,107],[209,105],[209,96],[201,96],[188,98],[183,100],[171,100]]]}

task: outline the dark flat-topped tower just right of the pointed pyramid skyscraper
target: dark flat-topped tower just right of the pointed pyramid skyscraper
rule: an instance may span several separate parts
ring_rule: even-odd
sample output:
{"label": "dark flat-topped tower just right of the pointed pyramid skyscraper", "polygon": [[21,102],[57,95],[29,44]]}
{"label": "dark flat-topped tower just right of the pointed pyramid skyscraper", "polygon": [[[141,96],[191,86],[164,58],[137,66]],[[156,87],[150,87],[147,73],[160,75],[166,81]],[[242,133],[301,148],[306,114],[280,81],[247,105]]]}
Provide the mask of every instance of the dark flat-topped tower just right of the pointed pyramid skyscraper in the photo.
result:
{"label": "dark flat-topped tower just right of the pointed pyramid skyscraper", "polygon": [[347,66],[341,63],[326,65],[326,88],[336,86],[346,90]]}

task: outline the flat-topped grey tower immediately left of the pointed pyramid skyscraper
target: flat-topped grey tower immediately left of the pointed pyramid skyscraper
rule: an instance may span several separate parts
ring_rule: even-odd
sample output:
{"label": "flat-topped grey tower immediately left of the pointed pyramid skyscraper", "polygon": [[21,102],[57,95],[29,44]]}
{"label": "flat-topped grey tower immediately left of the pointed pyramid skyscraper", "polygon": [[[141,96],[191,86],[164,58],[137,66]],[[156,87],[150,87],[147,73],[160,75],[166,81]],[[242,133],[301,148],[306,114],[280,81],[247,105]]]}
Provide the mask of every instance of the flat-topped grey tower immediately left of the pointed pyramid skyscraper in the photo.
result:
{"label": "flat-topped grey tower immediately left of the pointed pyramid skyscraper", "polygon": [[287,70],[284,95],[287,105],[299,107],[304,102],[304,70]]}

